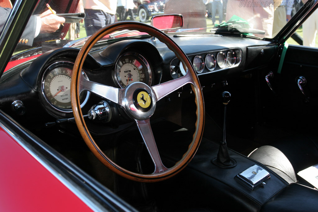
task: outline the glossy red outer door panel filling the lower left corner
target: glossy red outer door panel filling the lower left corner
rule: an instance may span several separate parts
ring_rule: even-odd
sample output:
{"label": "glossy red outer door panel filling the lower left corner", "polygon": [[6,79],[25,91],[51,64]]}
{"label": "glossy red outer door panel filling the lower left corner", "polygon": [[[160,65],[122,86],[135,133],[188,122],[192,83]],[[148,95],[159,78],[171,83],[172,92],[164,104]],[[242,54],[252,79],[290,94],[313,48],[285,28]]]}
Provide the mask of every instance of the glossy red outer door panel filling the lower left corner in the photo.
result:
{"label": "glossy red outer door panel filling the lower left corner", "polygon": [[1,211],[92,211],[13,137],[1,126]]}

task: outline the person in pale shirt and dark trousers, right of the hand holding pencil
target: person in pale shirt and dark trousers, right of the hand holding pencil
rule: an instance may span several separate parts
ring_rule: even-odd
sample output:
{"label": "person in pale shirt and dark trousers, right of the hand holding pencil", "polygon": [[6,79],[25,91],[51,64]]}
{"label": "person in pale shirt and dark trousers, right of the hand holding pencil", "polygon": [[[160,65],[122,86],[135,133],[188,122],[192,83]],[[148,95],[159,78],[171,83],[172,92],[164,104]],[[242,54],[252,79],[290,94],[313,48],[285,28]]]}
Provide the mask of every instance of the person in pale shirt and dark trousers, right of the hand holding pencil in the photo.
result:
{"label": "person in pale shirt and dark trousers, right of the hand holding pencil", "polygon": [[86,35],[115,22],[117,0],[83,0]]}

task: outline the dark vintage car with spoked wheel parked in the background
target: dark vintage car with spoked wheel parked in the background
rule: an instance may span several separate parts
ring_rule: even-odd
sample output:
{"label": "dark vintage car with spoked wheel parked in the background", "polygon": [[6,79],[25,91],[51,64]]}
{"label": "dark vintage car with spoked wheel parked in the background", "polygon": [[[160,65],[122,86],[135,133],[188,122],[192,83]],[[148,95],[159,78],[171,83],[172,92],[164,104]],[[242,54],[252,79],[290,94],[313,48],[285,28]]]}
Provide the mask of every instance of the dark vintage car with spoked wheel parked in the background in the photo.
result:
{"label": "dark vintage car with spoked wheel parked in the background", "polygon": [[137,5],[137,16],[141,22],[147,22],[149,17],[162,15],[164,12],[165,0],[134,0]]}

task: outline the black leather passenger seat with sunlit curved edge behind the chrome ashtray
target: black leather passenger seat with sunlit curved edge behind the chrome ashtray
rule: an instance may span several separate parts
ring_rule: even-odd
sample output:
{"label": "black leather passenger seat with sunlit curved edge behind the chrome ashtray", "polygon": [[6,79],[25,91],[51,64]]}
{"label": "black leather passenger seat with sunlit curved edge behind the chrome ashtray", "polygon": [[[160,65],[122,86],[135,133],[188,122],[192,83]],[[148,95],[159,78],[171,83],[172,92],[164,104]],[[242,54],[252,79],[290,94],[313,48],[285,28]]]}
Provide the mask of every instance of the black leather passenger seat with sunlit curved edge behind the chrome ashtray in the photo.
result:
{"label": "black leather passenger seat with sunlit curved edge behind the chrome ashtray", "polygon": [[297,173],[318,163],[318,137],[289,136],[259,147],[249,157],[272,169],[289,183],[298,182],[312,187]]}

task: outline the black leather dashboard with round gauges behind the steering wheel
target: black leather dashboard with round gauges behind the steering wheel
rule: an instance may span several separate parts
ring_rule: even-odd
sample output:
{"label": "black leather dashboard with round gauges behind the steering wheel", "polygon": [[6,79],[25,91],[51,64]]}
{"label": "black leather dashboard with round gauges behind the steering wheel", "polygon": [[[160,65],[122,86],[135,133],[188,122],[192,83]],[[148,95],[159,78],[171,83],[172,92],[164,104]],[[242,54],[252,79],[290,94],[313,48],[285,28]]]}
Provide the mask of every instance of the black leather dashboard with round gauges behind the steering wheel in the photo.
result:
{"label": "black leather dashboard with round gauges behind the steering wheel", "polygon": [[[196,34],[171,38],[187,54],[202,87],[266,65],[275,58],[277,49],[270,42],[252,38]],[[77,48],[48,51],[6,72],[0,82],[0,106],[11,113],[12,102],[20,100],[28,111],[26,116],[42,114],[44,109],[52,119],[73,117],[70,82],[78,53]],[[124,88],[135,81],[158,85],[182,77],[186,69],[165,44],[146,38],[99,44],[86,58],[82,74],[93,82]],[[84,113],[100,100],[87,91],[81,93],[80,99]],[[115,104],[110,105],[121,111]],[[119,123],[129,122],[120,112],[113,118],[122,120]]]}

